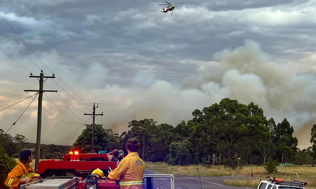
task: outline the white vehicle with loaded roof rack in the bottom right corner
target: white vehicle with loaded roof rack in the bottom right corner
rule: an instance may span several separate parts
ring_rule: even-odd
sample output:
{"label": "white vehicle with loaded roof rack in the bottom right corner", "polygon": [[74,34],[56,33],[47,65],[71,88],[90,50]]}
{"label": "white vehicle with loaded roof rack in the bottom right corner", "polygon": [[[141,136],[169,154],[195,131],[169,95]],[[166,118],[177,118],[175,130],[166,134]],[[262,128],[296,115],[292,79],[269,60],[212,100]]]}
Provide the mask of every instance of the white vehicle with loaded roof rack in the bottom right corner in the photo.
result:
{"label": "white vehicle with loaded roof rack in the bottom right corner", "polygon": [[307,182],[301,182],[298,180],[285,181],[280,178],[268,176],[267,180],[262,180],[257,189],[305,189],[303,185],[307,185]]}

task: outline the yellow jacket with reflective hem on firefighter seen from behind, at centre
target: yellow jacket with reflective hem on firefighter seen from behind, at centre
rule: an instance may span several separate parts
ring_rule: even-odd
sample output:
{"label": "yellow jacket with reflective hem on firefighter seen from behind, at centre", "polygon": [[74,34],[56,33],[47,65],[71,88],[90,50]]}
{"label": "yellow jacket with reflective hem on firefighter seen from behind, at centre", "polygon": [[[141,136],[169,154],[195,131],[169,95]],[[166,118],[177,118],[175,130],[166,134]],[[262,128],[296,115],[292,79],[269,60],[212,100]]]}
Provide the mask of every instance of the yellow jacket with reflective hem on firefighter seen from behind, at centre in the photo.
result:
{"label": "yellow jacket with reflective hem on firefighter seen from behind, at centre", "polygon": [[137,152],[131,152],[120,161],[108,178],[119,180],[120,189],[142,189],[145,163]]}

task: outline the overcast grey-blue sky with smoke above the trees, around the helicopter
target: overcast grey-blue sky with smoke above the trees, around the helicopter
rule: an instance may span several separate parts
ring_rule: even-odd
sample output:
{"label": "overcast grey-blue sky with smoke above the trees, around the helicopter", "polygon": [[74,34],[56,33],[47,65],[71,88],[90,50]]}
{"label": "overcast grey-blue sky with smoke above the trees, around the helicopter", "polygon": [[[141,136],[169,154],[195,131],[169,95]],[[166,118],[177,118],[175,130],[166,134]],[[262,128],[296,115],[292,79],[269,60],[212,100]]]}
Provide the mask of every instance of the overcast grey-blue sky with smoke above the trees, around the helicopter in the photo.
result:
{"label": "overcast grey-blue sky with smoke above the trees, around the helicopter", "polygon": [[[163,1],[1,0],[0,14],[36,55],[0,18],[0,109],[38,89],[29,71],[43,69],[57,76],[44,88],[58,93],[43,96],[42,143],[72,144],[94,102],[104,113],[96,122],[121,133],[133,119],[175,126],[228,97],[259,104],[277,122],[288,118],[297,132],[305,128],[299,143],[308,144],[316,0],[169,2],[184,4],[171,16],[160,12]],[[0,128],[31,101],[1,111]],[[9,134],[36,141],[36,102]]]}

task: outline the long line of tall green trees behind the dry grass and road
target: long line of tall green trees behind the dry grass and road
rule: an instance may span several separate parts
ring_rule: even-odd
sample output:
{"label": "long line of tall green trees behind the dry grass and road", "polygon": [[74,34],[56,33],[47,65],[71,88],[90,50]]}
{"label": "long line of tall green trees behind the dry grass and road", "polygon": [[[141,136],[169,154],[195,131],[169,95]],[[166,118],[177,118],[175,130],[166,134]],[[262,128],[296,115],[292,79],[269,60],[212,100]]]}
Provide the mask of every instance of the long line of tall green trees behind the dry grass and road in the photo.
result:
{"label": "long line of tall green trees behind the dry grass and road", "polygon": [[[312,164],[316,159],[316,125],[311,130],[313,146],[300,150],[293,137],[294,128],[284,118],[276,123],[251,102],[248,105],[229,98],[194,110],[193,118],[175,127],[157,124],[153,119],[132,120],[121,135],[95,127],[94,150],[124,149],[130,137],[141,142],[140,157],[145,161],[172,165],[213,164],[236,168],[240,164],[278,163]],[[91,149],[92,128],[88,126],[73,143],[82,152]],[[125,151],[126,153],[126,151]]]}

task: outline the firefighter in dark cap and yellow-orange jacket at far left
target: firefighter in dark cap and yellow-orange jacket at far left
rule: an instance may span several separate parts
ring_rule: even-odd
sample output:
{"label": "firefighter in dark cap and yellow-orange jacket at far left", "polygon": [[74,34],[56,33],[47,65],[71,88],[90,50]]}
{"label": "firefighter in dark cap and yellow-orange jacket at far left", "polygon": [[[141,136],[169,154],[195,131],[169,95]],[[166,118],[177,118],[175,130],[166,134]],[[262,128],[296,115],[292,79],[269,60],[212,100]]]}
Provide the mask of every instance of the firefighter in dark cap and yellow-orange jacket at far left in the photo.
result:
{"label": "firefighter in dark cap and yellow-orange jacket at far left", "polygon": [[24,148],[20,152],[20,158],[18,165],[15,166],[8,174],[8,178],[5,181],[5,185],[12,189],[20,188],[21,184],[32,182],[35,177],[39,177],[39,174],[34,173],[30,163],[33,161],[32,153],[34,148]]}

